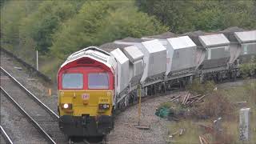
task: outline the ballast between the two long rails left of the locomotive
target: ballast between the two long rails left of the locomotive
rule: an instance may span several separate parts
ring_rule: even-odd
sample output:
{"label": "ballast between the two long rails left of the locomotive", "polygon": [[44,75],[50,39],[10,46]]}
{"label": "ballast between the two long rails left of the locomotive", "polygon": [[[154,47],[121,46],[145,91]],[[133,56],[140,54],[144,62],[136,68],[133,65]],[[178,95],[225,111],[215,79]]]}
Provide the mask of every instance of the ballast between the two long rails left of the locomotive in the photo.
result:
{"label": "ballast between the two long rails left of the locomotive", "polygon": [[[3,74],[1,73],[1,75]],[[37,102],[34,102],[34,100],[21,90],[16,83],[11,81],[10,78],[5,77],[2,78],[1,86],[48,134],[50,134],[55,142],[66,142],[64,134],[58,129],[58,120],[52,118],[46,110],[42,109]]]}

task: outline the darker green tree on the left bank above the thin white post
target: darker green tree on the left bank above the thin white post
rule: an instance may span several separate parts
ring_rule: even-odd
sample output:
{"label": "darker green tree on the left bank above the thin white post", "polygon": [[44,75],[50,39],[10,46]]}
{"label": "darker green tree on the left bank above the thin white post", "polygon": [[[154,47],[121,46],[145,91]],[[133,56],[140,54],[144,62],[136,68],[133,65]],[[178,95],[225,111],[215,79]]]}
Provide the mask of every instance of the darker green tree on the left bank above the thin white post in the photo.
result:
{"label": "darker green tree on the left bank above the thin white post", "polygon": [[36,49],[44,54],[52,45],[54,31],[74,14],[76,14],[74,2],[44,1],[35,13],[22,19],[21,39],[24,42],[27,38],[32,38],[36,43]]}

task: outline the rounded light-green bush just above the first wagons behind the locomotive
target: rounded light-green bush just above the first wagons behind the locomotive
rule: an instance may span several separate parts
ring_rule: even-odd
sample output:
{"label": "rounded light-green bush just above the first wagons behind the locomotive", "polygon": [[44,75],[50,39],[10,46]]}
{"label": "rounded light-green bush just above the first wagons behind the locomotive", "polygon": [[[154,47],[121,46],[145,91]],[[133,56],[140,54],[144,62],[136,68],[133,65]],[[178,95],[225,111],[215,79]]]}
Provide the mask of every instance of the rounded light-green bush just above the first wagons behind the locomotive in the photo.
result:
{"label": "rounded light-green bush just above the first wagons behind the locomotive", "polygon": [[126,37],[141,38],[143,35],[160,34],[167,30],[154,17],[138,12],[135,7],[127,7],[110,12],[96,35],[98,44],[102,44]]}

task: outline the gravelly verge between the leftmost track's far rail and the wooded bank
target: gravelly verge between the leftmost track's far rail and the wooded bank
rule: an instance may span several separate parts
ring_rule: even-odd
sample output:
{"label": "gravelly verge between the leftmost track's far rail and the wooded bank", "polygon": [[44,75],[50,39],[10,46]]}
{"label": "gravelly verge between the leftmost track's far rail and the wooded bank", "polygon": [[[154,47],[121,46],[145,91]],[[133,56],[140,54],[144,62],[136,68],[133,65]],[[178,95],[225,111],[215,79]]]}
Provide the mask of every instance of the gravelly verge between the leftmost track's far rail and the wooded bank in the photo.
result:
{"label": "gravelly verge between the leftmost track's far rail and the wooded bank", "polygon": [[[44,102],[46,106],[49,106],[56,114],[58,113],[58,97],[56,94],[48,96],[48,89],[51,88],[49,84],[42,84],[43,82],[42,80],[39,80],[40,78],[31,75],[29,70],[26,70],[26,67],[22,67],[22,65],[16,62],[14,58],[11,58],[2,51],[0,60],[2,68],[13,75],[23,86]],[[19,69],[20,67],[22,70]],[[55,93],[55,91],[53,91],[53,93]]]}

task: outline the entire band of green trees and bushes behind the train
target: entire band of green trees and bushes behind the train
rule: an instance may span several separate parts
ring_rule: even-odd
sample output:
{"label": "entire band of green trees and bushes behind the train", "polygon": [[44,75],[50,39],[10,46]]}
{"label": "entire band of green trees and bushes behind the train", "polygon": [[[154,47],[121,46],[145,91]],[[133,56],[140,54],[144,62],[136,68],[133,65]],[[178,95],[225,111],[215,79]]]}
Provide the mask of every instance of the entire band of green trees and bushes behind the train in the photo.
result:
{"label": "entire band of green trees and bushes behind the train", "polygon": [[115,39],[256,28],[256,1],[1,0],[1,46],[55,79],[65,58]]}

